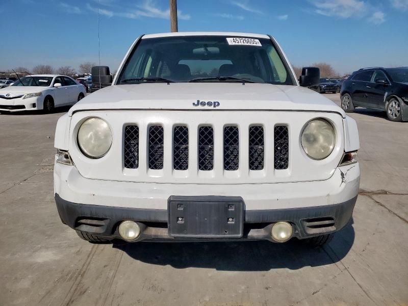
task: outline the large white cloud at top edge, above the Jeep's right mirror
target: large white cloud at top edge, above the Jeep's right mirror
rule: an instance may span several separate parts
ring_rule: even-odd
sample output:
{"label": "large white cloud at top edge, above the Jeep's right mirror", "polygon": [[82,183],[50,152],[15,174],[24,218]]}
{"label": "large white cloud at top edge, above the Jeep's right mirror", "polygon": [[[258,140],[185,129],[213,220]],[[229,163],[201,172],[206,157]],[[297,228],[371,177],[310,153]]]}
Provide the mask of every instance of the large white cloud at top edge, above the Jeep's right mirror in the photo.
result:
{"label": "large white cloud at top edge, above the Jeep's right mirror", "polygon": [[360,0],[313,0],[315,12],[324,16],[349,18],[362,15],[366,4]]}

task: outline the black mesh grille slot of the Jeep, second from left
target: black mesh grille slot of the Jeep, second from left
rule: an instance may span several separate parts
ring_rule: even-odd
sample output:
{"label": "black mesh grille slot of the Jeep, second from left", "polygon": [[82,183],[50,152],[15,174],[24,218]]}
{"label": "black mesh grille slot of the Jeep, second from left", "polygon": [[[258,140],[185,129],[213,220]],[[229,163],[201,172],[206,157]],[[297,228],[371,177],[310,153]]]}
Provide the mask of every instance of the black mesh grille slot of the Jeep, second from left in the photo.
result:
{"label": "black mesh grille slot of the Jeep, second from left", "polygon": [[164,132],[163,126],[149,127],[149,169],[163,169],[164,159]]}

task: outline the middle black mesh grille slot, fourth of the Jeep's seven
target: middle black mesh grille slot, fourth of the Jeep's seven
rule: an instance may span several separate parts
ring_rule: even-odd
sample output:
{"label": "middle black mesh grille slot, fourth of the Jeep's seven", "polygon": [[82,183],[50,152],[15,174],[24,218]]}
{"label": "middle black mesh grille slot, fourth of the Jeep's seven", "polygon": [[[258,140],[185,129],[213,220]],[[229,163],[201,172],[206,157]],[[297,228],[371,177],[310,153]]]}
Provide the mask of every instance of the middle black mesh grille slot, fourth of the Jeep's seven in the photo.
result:
{"label": "middle black mesh grille slot, fourth of the Jeep's seven", "polygon": [[211,126],[200,126],[198,129],[198,169],[214,168],[214,130]]}

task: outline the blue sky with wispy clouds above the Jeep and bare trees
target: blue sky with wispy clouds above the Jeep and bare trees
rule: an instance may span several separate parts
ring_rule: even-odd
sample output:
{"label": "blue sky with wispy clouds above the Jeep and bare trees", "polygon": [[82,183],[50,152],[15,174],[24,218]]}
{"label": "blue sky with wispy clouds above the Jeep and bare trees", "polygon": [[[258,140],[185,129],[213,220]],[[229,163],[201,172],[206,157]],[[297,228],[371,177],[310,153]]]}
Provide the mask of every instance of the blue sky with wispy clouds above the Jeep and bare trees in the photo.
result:
{"label": "blue sky with wispy clouds above the Jeep and bare trees", "polygon": [[[408,66],[408,0],[177,0],[179,31],[273,35],[293,65]],[[97,63],[98,0],[2,0],[0,70]],[[101,64],[169,32],[168,0],[99,0]]]}

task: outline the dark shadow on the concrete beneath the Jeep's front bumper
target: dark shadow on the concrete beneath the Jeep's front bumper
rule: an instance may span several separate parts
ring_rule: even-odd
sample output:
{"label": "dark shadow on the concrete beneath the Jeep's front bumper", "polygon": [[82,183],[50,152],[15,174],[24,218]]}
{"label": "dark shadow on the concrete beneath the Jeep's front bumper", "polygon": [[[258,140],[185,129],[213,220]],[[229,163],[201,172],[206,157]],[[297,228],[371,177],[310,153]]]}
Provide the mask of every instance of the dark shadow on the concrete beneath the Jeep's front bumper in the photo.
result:
{"label": "dark shadow on the concrete beneath the Jeep's front bumper", "polygon": [[269,271],[323,266],[343,259],[354,242],[350,222],[324,247],[314,248],[295,239],[287,243],[240,242],[140,242],[113,245],[131,258],[176,269],[212,268],[221,271]]}

